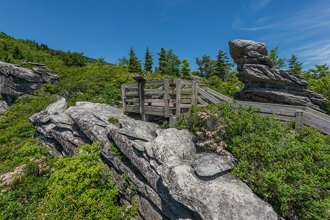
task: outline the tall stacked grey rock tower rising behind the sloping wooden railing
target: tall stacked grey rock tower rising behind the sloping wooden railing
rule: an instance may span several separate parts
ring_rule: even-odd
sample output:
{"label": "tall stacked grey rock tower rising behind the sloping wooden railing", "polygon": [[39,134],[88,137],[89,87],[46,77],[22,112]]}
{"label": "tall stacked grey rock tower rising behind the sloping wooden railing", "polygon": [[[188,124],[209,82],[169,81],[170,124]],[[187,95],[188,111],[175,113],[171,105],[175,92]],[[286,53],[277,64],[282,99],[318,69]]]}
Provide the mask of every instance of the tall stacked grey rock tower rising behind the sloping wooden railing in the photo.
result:
{"label": "tall stacked grey rock tower rising behind the sloping wooden railing", "polygon": [[303,76],[290,70],[273,68],[266,45],[247,40],[229,42],[229,53],[237,64],[238,78],[244,89],[234,94],[243,101],[307,106],[320,110],[328,101],[307,89]]}

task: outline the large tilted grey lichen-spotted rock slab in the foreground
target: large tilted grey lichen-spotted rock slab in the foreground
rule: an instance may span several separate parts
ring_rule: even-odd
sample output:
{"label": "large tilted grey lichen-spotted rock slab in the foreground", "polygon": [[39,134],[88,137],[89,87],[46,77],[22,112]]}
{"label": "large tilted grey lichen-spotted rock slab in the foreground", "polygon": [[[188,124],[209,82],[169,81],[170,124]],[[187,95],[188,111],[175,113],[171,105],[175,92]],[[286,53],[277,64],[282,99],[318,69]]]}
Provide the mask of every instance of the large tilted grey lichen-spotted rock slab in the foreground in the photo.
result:
{"label": "large tilted grey lichen-spotted rock slab in the foreground", "polygon": [[[268,203],[230,174],[235,159],[196,154],[187,130],[159,129],[107,104],[77,102],[66,109],[63,98],[29,120],[58,156],[73,156],[77,146],[101,142],[101,159],[113,172],[121,202],[134,198],[139,219],[278,219]],[[114,155],[113,143],[125,157]]]}

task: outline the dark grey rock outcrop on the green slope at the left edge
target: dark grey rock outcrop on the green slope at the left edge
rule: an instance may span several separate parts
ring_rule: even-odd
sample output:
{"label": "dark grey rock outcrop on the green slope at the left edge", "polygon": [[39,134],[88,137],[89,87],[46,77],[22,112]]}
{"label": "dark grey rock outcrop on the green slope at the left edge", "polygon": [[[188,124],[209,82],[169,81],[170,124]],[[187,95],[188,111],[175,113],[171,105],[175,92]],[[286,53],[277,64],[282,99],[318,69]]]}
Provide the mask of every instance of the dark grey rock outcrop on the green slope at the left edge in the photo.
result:
{"label": "dark grey rock outcrop on the green slope at the left edge", "polygon": [[[23,63],[28,64],[28,63]],[[19,96],[27,93],[33,94],[43,88],[44,83],[54,84],[58,74],[47,72],[44,64],[40,68],[27,69],[18,65],[0,62],[0,92],[2,99],[12,105]]]}

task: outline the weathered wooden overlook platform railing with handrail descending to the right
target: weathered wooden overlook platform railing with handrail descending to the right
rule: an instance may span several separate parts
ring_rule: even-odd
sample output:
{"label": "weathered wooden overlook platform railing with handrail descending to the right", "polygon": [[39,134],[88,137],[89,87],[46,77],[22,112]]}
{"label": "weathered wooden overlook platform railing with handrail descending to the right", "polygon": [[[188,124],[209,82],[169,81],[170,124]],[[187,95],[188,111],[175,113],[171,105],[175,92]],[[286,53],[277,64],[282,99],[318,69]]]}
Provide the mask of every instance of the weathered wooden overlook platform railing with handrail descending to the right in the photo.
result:
{"label": "weathered wooden overlook platform railing with handrail descending to the right", "polygon": [[[330,134],[330,116],[309,107],[248,101],[234,102],[233,99],[210,88],[203,88],[204,82],[190,80],[145,81],[142,82],[144,87],[140,83],[141,78],[138,83],[122,85],[122,101],[124,112],[141,113],[143,120],[146,120],[148,115],[157,115],[170,118],[170,124],[172,119],[173,124],[175,122],[173,119],[188,112],[191,105],[208,105],[210,102],[219,104],[226,101],[236,106],[252,105],[258,107],[261,114],[276,114],[277,119],[281,121],[293,121],[300,127],[307,125]],[[139,87],[143,91],[140,91]]]}

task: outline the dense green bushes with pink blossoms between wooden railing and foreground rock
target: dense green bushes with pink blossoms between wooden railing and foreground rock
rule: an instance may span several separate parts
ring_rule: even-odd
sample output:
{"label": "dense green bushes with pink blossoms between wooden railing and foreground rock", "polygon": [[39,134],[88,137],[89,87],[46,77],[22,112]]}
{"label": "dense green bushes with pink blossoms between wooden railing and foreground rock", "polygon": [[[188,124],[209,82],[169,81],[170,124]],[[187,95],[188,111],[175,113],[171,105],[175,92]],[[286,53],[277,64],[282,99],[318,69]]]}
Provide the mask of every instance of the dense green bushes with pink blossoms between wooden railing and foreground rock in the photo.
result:
{"label": "dense green bushes with pink blossoms between wooden railing and foreground rock", "polygon": [[[204,142],[208,132],[215,131],[210,137],[226,143],[226,150],[239,159],[232,173],[279,214],[290,212],[298,219],[328,219],[330,137],[308,127],[295,134],[274,117],[256,111],[244,106],[235,109],[228,103],[208,105],[192,109],[176,126],[202,136],[200,141]],[[217,115],[219,119],[210,123],[214,122],[213,128],[222,129],[210,130],[201,113],[210,118]]]}

